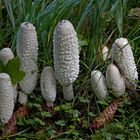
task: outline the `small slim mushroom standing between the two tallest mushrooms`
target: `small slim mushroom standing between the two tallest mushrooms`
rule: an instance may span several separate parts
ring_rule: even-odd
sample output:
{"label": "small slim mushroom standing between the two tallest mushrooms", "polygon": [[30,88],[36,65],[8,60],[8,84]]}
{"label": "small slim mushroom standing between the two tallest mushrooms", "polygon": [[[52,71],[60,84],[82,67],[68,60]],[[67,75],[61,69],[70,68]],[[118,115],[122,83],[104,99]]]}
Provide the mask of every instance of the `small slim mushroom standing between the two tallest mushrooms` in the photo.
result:
{"label": "small slim mushroom standing between the two tallest mushrooms", "polygon": [[53,106],[56,98],[56,79],[52,67],[44,67],[41,74],[41,93],[47,106]]}

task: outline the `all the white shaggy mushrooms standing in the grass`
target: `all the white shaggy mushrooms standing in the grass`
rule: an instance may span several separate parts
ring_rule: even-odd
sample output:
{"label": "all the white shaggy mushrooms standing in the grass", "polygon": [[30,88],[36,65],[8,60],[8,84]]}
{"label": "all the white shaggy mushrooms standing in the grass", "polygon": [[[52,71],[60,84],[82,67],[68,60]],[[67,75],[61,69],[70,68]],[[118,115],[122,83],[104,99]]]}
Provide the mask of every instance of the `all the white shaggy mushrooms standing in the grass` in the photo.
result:
{"label": "all the white shaggy mushrooms standing in the grass", "polygon": [[[19,93],[17,85],[13,86],[7,73],[0,73],[0,120],[7,123],[13,114],[14,102],[26,104],[37,85],[38,76],[38,41],[35,27],[24,22],[17,33],[17,56],[20,60],[20,69],[26,75],[19,81]],[[111,58],[112,62],[106,69],[105,76],[99,70],[91,72],[93,90],[100,100],[108,97],[108,88],[115,97],[122,96],[125,89],[137,87],[138,73],[134,61],[133,52],[126,38],[115,40],[109,54],[108,48],[102,49],[103,60]],[[14,58],[10,48],[0,51],[0,61],[6,65]],[[63,96],[67,101],[74,98],[73,82],[79,74],[79,45],[77,33],[67,20],[58,22],[53,34],[53,59],[54,70],[51,66],[45,66],[40,78],[40,88],[48,107],[53,107],[56,99],[56,79],[63,87]],[[6,110],[6,111],[5,111]]]}

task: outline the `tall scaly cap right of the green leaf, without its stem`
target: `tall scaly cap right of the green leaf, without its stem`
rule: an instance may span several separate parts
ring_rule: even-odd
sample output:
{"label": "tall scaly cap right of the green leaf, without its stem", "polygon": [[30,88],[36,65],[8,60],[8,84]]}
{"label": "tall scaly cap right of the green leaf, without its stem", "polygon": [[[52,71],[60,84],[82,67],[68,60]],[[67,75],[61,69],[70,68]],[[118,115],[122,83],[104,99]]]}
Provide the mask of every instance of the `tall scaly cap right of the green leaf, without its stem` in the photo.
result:
{"label": "tall scaly cap right of the green leaf, without its stem", "polygon": [[21,24],[17,33],[17,55],[21,69],[26,73],[19,86],[24,93],[30,94],[37,83],[38,41],[35,27],[28,22]]}

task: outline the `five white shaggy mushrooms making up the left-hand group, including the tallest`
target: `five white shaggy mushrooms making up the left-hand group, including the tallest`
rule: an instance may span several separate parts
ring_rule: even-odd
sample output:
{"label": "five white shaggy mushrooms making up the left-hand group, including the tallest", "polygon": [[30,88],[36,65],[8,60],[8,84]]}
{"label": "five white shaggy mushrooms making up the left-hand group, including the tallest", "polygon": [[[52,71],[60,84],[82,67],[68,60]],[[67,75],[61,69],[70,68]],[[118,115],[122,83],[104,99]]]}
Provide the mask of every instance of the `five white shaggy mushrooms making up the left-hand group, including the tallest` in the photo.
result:
{"label": "five white shaggy mushrooms making up the left-hand group, including the tallest", "polygon": [[[12,116],[17,96],[20,104],[26,104],[28,95],[37,85],[38,41],[33,24],[23,22],[20,25],[16,52],[25,77],[19,81],[17,91],[17,85],[12,85],[11,77],[7,73],[0,73],[0,120],[4,124]],[[13,58],[14,54],[10,48],[0,51],[0,61],[3,65]],[[48,107],[53,107],[56,98],[56,79],[63,86],[65,100],[70,101],[74,98],[73,82],[79,74],[79,45],[76,31],[67,20],[58,22],[54,30],[53,58],[54,70],[51,66],[44,67],[40,78],[41,93]]]}

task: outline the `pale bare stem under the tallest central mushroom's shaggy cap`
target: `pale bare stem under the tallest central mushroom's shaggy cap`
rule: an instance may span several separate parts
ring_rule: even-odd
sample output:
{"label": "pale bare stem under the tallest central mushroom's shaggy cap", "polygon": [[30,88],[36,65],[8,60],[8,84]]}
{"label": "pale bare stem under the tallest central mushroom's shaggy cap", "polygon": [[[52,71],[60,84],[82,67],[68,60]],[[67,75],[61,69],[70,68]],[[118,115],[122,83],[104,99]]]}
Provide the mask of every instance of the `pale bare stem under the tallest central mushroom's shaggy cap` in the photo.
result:
{"label": "pale bare stem under the tallest central mushroom's shaggy cap", "polygon": [[73,84],[63,86],[63,95],[66,101],[71,101],[74,98]]}

